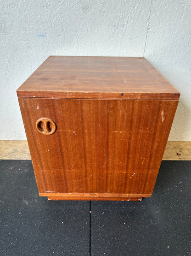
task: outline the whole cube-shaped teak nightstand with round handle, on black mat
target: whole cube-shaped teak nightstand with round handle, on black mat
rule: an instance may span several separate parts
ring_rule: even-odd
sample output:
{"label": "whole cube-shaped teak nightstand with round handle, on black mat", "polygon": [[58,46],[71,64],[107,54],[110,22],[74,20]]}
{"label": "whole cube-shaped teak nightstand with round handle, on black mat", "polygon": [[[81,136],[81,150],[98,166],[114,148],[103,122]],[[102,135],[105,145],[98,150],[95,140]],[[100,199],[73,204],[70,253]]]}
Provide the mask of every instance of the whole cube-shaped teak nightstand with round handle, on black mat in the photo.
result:
{"label": "whole cube-shaped teak nightstand with round handle, on black mat", "polygon": [[40,196],[151,196],[180,97],[146,59],[50,56],[17,89]]}

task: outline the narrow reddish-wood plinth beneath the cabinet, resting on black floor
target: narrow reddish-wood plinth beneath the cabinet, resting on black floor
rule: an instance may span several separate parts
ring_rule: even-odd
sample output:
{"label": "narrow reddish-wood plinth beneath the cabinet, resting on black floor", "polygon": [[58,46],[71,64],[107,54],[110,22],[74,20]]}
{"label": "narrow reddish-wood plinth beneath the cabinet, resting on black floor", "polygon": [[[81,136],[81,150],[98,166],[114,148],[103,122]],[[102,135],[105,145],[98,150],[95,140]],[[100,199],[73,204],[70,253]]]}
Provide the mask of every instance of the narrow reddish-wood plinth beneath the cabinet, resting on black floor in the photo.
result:
{"label": "narrow reddish-wood plinth beneath the cabinet, resting on black floor", "polygon": [[142,197],[48,196],[48,200],[141,201]]}

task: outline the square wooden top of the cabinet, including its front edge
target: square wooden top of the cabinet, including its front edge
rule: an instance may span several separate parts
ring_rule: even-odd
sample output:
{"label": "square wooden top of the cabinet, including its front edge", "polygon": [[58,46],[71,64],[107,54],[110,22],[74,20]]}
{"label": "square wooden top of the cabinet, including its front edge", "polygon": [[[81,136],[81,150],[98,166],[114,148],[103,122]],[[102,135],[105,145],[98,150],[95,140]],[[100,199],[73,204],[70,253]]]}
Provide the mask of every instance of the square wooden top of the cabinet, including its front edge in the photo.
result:
{"label": "square wooden top of the cabinet, including its front edge", "polygon": [[18,97],[178,100],[145,58],[50,56],[17,89]]}

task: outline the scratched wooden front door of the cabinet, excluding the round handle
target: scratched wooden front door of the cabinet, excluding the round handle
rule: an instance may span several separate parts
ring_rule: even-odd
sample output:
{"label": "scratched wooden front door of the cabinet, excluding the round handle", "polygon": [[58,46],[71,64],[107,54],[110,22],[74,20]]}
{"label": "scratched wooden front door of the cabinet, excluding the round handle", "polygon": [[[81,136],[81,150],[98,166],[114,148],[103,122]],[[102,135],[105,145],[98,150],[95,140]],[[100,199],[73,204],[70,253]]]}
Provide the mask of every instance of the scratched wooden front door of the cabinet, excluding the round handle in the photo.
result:
{"label": "scratched wooden front door of the cabinet, excluding the round handle", "polygon": [[[19,103],[40,194],[151,195],[178,101],[19,98]],[[53,120],[56,131],[38,131],[41,118]]]}

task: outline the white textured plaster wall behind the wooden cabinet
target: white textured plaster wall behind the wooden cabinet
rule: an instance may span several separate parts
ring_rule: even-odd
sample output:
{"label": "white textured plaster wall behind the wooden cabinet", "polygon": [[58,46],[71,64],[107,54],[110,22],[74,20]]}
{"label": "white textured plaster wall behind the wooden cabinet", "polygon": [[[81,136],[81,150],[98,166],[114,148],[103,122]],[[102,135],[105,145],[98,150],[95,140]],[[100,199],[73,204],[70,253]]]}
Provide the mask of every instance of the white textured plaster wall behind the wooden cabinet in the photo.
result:
{"label": "white textured plaster wall behind the wooden cabinet", "polygon": [[1,0],[0,139],[24,140],[16,89],[49,55],[144,56],[181,92],[171,141],[191,141],[190,0]]}

